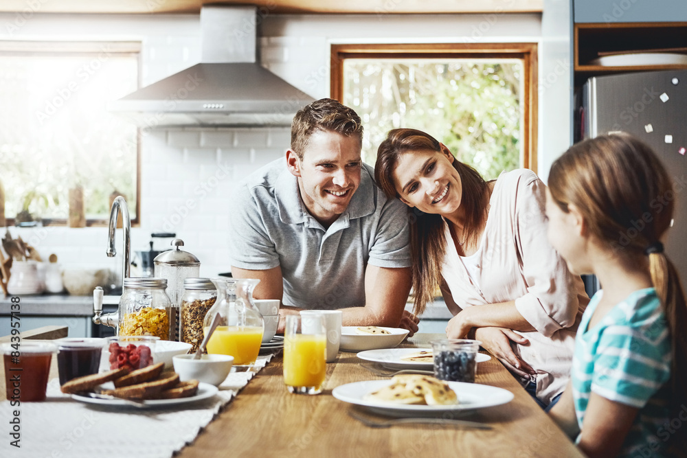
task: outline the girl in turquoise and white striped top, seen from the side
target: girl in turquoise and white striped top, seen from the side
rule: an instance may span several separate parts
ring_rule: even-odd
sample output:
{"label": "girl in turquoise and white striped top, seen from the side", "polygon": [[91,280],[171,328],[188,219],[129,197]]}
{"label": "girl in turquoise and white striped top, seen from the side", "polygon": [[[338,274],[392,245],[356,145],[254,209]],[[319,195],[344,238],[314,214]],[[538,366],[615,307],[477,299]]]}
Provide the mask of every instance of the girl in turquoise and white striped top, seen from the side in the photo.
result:
{"label": "girl in turquoise and white striped top, seen from the side", "polygon": [[570,384],[550,413],[590,457],[671,455],[687,435],[671,427],[679,415],[687,420],[687,342],[677,333],[687,309],[660,242],[671,195],[659,159],[627,134],[572,146],[549,174],[548,238],[570,271],[594,273],[603,287],[583,315]]}

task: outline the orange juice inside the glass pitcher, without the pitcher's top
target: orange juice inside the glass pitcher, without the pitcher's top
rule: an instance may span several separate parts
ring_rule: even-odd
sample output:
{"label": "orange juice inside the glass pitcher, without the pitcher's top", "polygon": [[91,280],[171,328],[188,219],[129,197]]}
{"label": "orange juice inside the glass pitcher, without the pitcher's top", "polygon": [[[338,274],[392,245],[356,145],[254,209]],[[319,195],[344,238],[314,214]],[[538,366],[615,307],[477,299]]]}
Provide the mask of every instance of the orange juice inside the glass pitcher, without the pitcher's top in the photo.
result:
{"label": "orange juice inside the glass pitcher, without the pitcher's top", "polygon": [[234,356],[235,366],[252,365],[258,358],[261,343],[262,326],[217,326],[206,348],[207,353]]}

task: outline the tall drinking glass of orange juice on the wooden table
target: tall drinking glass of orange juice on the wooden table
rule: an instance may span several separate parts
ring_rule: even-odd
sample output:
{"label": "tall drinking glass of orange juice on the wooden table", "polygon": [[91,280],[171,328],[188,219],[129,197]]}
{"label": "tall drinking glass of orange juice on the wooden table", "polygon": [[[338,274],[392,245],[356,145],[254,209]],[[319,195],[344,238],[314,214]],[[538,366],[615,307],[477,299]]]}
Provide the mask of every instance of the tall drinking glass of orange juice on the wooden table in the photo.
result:
{"label": "tall drinking glass of orange juice on the wooden table", "polygon": [[319,394],[326,375],[327,330],[324,315],[286,315],[284,384],[290,393]]}

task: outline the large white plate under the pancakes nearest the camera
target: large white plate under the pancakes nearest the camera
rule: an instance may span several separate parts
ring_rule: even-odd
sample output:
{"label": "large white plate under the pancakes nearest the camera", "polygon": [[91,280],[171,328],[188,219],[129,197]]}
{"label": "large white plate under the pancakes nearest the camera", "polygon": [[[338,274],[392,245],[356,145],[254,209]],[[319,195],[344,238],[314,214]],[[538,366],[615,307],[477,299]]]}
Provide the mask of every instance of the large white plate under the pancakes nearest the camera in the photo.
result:
{"label": "large white plate under the pancakes nearest the camera", "polygon": [[479,383],[447,382],[458,396],[459,404],[444,406],[421,406],[409,404],[388,404],[376,400],[363,400],[363,396],[391,384],[391,380],[367,380],[347,383],[336,387],[332,395],[343,402],[367,407],[371,411],[396,417],[436,416],[447,412],[458,415],[477,409],[499,406],[513,400],[513,393],[506,389],[481,385]]}

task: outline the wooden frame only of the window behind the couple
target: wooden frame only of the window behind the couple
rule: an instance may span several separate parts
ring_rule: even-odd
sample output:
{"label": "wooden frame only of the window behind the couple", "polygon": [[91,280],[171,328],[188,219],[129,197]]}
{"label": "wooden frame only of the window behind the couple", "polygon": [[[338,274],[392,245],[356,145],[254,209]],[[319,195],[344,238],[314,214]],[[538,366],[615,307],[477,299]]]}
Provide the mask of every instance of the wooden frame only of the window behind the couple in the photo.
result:
{"label": "wooden frame only of the window behind the couple", "polygon": [[537,43],[337,44],[331,47],[331,98],[343,102],[343,60],[350,58],[508,58],[523,62],[523,167],[537,172]]}

